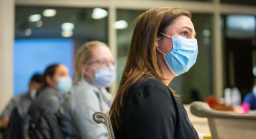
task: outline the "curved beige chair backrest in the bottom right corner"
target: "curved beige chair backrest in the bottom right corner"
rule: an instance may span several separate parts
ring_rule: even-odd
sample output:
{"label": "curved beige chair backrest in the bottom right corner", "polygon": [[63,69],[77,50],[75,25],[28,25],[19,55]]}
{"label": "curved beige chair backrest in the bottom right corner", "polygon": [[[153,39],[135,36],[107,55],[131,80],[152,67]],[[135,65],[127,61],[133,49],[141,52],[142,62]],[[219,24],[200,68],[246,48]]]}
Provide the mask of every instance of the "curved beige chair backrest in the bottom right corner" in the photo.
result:
{"label": "curved beige chair backrest in the bottom right corner", "polygon": [[200,101],[193,102],[190,110],[195,116],[207,117],[213,139],[246,139],[256,136],[256,115],[216,111]]}

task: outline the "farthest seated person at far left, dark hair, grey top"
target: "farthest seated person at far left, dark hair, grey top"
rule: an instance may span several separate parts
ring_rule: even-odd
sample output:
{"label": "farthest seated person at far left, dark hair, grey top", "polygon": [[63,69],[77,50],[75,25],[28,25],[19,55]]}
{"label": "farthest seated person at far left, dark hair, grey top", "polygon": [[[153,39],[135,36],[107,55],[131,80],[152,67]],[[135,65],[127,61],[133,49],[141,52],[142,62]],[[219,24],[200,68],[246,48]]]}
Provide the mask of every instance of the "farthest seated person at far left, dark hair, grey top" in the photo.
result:
{"label": "farthest seated person at far left, dark hair, grey top", "polygon": [[31,102],[33,101],[33,99],[35,99],[38,90],[40,90],[40,88],[42,87],[42,83],[42,74],[33,74],[29,82],[28,92],[23,93],[22,95],[18,95],[17,97],[13,97],[6,106],[6,108],[3,110],[3,113],[1,113],[1,129],[6,129],[6,127],[8,126],[8,122],[10,120],[10,115],[13,112],[14,108],[16,108],[17,106],[19,106],[22,109],[22,113],[27,113],[29,106],[31,105]]}

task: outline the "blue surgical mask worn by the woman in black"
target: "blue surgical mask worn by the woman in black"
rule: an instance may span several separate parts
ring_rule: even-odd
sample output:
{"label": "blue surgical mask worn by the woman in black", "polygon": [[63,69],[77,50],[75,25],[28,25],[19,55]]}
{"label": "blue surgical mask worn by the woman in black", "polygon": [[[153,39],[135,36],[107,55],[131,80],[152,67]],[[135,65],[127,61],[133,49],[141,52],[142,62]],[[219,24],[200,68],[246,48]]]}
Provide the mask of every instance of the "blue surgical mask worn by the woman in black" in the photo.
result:
{"label": "blue surgical mask worn by the woman in black", "polygon": [[164,55],[164,59],[166,60],[169,69],[175,76],[188,72],[195,64],[198,56],[197,40],[195,38],[187,39],[179,35],[170,37],[164,33],[161,34],[173,40],[173,50],[169,53],[164,54],[157,48]]}

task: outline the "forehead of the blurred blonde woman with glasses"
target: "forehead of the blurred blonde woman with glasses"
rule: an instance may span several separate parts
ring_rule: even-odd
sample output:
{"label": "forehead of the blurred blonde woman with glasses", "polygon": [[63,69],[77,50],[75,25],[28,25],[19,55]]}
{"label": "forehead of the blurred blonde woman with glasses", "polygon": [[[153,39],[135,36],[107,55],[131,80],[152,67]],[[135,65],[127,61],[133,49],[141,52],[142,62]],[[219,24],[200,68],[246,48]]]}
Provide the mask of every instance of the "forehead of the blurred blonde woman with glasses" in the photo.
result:
{"label": "forehead of the blurred blonde woman with glasses", "polygon": [[99,47],[93,47],[91,51],[92,51],[91,59],[96,59],[96,60],[113,59],[111,50],[109,49],[109,47],[106,47],[104,45],[101,45]]}

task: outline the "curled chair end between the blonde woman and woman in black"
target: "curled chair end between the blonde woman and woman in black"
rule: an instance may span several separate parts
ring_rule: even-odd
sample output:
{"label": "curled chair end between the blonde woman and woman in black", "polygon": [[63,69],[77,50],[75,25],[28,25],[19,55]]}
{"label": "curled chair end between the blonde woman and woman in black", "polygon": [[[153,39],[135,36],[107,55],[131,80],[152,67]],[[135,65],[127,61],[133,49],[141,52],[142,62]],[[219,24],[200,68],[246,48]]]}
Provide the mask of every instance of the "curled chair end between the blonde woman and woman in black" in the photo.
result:
{"label": "curled chair end between the blonde woman and woman in black", "polygon": [[111,125],[111,121],[110,121],[109,117],[106,114],[104,114],[102,112],[96,112],[96,113],[93,114],[93,120],[97,124],[104,124],[106,126],[106,128],[108,129],[109,139],[115,139],[113,129],[112,129],[112,125]]}

